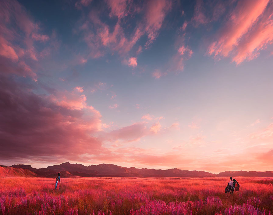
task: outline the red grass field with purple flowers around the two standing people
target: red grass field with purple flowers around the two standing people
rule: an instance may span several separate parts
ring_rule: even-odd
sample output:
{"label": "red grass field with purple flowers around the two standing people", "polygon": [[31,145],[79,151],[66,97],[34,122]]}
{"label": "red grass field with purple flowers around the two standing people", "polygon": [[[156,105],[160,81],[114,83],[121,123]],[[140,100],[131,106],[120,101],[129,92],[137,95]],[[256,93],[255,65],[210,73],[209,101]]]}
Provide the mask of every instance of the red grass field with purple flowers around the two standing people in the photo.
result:
{"label": "red grass field with purple flowers around the two standing people", "polygon": [[0,178],[0,214],[273,214],[273,178]]}

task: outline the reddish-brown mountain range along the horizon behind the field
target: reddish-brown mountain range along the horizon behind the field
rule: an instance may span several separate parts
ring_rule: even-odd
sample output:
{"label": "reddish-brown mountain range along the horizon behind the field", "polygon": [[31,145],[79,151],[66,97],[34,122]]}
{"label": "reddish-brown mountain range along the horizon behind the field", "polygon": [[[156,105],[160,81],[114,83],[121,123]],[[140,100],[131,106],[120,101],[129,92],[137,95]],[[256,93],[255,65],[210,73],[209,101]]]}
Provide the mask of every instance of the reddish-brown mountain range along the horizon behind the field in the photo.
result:
{"label": "reddish-brown mountain range along the horizon behind the field", "polygon": [[84,166],[65,162],[47,168],[33,168],[30,165],[16,164],[12,166],[0,165],[0,177],[273,177],[273,171],[225,171],[213,174],[204,171],[189,171],[181,169],[138,169],[135,167],[122,167],[114,164],[99,164]]}

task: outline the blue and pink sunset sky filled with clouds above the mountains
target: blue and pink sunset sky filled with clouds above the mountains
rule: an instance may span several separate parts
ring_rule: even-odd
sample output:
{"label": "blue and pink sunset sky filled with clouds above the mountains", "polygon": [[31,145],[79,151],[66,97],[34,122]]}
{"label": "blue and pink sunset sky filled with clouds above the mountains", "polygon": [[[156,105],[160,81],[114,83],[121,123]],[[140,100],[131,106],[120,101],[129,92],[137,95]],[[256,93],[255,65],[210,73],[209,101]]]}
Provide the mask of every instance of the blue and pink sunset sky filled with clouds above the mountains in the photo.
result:
{"label": "blue and pink sunset sky filled with clouds above the mountains", "polygon": [[0,164],[273,171],[272,0],[0,1]]}

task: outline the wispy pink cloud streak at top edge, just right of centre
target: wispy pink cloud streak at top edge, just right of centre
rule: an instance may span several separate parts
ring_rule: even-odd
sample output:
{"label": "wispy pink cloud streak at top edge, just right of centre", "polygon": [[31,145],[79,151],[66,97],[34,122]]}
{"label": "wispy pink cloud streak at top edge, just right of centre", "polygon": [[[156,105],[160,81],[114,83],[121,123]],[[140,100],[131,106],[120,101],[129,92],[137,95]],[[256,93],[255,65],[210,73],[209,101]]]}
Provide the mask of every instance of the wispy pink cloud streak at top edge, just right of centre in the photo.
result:
{"label": "wispy pink cloud streak at top edge, just right of centre", "polygon": [[147,3],[145,31],[148,35],[148,41],[146,42],[146,47],[158,36],[158,31],[162,26],[163,20],[171,8],[172,2],[167,0],[150,0]]}

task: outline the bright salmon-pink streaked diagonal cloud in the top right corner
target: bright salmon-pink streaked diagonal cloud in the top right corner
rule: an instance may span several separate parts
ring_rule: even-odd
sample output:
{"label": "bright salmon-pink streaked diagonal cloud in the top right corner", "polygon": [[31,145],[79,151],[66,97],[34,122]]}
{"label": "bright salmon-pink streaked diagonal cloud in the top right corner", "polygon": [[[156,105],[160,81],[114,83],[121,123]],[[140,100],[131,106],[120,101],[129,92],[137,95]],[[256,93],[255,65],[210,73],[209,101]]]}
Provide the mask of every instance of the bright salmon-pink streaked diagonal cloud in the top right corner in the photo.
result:
{"label": "bright salmon-pink streaked diagonal cloud in the top right corner", "polygon": [[268,2],[240,0],[207,53],[215,58],[232,56],[236,64],[256,58],[273,40],[272,5],[266,9]]}

